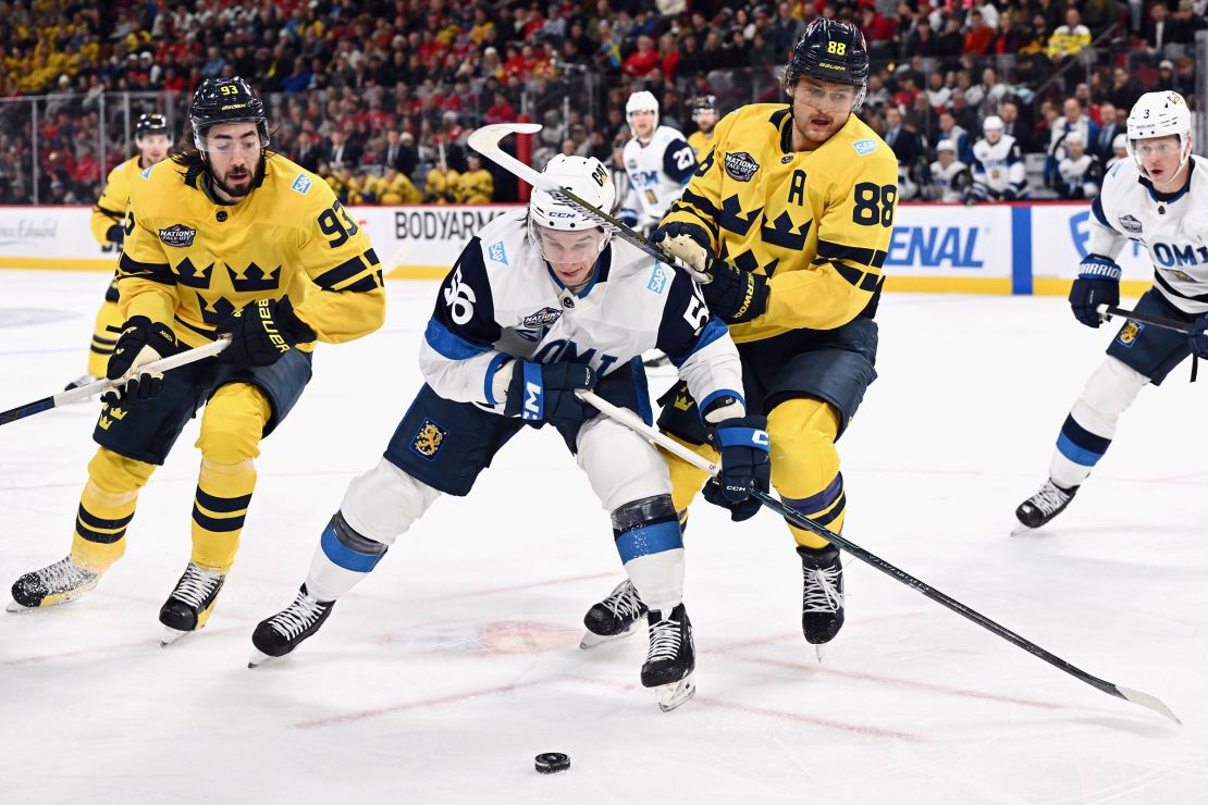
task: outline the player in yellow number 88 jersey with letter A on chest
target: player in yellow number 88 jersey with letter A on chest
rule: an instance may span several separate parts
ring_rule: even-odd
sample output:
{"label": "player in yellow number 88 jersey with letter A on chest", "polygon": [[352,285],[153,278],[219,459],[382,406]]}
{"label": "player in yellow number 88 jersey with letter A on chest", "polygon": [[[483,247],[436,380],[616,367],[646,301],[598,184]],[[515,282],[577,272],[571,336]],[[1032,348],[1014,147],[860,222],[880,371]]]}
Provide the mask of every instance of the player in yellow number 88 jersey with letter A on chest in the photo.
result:
{"label": "player in yellow number 88 jersey with letter A on chest", "polygon": [[[712,275],[702,291],[738,344],[747,408],[767,416],[772,484],[785,503],[834,531],[847,511],[835,442],[876,378],[873,315],[898,200],[893,151],[853,113],[867,76],[855,27],[811,23],[784,72],[791,104],[727,115],[651,235]],[[660,402],[660,427],[715,460],[697,401],[683,384]],[[667,461],[675,508],[686,517],[707,477],[679,459]],[[705,497],[722,500],[712,483]],[[732,518],[747,519],[759,506],[750,498],[731,507]],[[838,549],[789,530],[802,561],[802,631],[820,646],[843,624]],[[628,593],[618,588],[592,607],[587,628],[598,635],[626,630],[644,613]]]}

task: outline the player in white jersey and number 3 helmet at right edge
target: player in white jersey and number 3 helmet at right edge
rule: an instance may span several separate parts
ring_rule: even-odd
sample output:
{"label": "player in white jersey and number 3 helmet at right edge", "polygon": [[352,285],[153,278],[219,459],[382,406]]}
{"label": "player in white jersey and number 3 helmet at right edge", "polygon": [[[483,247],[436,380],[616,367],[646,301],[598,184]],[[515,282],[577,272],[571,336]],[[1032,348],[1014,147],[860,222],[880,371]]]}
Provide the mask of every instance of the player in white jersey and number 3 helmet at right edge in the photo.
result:
{"label": "player in white jersey and number 3 helmet at right edge", "polygon": [[1080,322],[1098,327],[1098,305],[1120,304],[1115,259],[1133,240],[1154,263],[1154,287],[1136,310],[1186,322],[1189,334],[1125,322],[1061,427],[1049,479],[1016,509],[1014,533],[1039,529],[1065,509],[1144,386],[1160,385],[1189,354],[1208,357],[1208,161],[1191,156],[1186,101],[1175,92],[1142,95],[1127,135],[1131,158],[1108,171],[1091,203],[1088,253],[1069,303]]}

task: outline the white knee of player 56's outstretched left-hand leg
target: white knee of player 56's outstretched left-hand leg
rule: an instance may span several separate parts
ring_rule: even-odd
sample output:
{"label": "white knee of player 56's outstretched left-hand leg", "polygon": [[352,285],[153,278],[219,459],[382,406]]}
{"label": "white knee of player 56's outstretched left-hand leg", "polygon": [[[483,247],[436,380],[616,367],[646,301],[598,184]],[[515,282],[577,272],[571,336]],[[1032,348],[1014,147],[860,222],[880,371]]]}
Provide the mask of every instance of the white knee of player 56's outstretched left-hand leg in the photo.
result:
{"label": "white knee of player 56's outstretched left-hand leg", "polygon": [[391,546],[440,496],[437,490],[382,459],[348,485],[339,513],[358,533]]}

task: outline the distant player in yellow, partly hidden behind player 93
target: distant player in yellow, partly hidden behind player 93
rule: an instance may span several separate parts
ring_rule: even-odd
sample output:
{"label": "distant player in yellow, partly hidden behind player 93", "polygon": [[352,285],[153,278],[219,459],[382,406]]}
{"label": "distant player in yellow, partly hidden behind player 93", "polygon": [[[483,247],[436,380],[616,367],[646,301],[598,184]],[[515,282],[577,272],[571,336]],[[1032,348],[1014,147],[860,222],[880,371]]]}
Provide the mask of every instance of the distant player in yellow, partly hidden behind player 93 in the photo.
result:
{"label": "distant player in yellow, partly hidden behind player 93", "polygon": [[[126,206],[130,196],[130,181],[140,170],[150,168],[168,156],[172,138],[168,134],[168,118],[163,115],[143,115],[134,124],[134,145],[139,156],[132,157],[109,171],[105,188],[100,192],[97,205],[92,208],[88,226],[92,235],[106,251],[122,250],[126,233],[122,228],[126,218]],[[116,262],[116,261],[115,261]],[[97,310],[93,325],[92,345],[88,349],[88,372],[68,384],[68,389],[83,386],[97,378],[105,377],[105,366],[114,354],[117,333],[122,328],[122,315],[117,309],[117,276],[109,282],[105,301]]]}

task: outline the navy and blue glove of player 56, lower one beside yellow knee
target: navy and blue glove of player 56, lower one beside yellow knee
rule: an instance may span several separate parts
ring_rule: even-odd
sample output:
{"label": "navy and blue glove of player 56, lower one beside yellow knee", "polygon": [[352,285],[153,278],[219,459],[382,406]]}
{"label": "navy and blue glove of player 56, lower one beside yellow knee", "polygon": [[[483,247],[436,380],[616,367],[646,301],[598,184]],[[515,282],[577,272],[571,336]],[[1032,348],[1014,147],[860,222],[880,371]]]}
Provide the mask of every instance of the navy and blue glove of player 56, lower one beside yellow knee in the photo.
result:
{"label": "navy and blue glove of player 56, lower one beside yellow knee", "polygon": [[709,444],[721,453],[721,472],[705,484],[704,500],[730,509],[734,523],[754,517],[762,504],[750,490],[767,492],[772,480],[766,427],[766,416],[736,416],[709,428]]}

